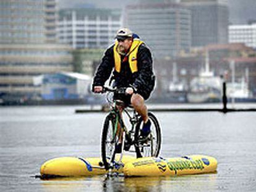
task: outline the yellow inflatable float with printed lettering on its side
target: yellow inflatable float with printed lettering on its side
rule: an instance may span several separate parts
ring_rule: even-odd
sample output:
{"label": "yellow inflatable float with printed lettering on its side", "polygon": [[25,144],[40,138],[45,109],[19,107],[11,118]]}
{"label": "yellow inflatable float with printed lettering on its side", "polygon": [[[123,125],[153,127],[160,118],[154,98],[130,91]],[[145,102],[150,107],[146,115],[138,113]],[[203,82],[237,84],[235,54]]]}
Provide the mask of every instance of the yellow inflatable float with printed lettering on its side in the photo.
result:
{"label": "yellow inflatable float with printed lettering on its side", "polygon": [[217,164],[215,158],[203,155],[169,159],[142,157],[125,164],[123,171],[126,177],[192,175],[216,172]]}

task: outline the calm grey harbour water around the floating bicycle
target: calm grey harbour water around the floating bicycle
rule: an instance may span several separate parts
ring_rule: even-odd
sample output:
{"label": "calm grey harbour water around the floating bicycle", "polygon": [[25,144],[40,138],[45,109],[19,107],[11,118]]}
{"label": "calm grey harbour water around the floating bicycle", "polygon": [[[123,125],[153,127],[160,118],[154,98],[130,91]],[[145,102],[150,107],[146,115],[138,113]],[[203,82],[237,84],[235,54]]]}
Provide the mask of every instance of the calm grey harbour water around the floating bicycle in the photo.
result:
{"label": "calm grey harbour water around the floating bicycle", "polygon": [[206,154],[218,173],[182,177],[40,180],[43,162],[100,156],[106,114],[75,114],[82,106],[0,108],[0,191],[255,191],[255,112],[159,112],[161,156]]}

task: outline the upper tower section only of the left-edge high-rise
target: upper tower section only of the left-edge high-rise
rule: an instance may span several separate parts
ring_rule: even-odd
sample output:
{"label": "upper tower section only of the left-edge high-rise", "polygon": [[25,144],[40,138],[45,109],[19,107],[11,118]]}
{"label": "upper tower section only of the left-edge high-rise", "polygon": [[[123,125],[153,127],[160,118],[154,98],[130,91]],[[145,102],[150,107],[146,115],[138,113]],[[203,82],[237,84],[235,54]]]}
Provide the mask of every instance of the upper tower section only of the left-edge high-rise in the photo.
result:
{"label": "upper tower section only of the left-edge high-rise", "polygon": [[1,0],[0,10],[0,43],[55,43],[56,0]]}

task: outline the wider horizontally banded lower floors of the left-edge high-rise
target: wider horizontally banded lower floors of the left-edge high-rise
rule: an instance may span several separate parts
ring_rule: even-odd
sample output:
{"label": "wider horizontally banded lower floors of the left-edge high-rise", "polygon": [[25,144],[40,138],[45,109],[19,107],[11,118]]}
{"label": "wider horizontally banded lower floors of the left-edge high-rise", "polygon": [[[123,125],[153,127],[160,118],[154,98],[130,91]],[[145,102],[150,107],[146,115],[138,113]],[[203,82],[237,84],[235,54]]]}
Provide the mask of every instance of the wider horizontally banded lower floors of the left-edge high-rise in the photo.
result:
{"label": "wider horizontally banded lower floors of the left-edge high-rise", "polygon": [[58,44],[6,44],[0,47],[0,93],[40,94],[33,77],[71,72],[70,48]]}

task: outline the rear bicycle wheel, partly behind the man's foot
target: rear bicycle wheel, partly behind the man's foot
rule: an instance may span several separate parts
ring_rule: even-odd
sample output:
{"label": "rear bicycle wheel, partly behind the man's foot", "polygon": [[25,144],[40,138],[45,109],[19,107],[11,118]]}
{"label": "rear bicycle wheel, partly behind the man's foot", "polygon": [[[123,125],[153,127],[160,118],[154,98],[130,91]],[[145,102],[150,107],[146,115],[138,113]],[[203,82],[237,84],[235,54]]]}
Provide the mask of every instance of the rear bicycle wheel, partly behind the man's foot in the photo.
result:
{"label": "rear bicycle wheel, partly behind the man's foot", "polygon": [[140,140],[140,130],[143,127],[142,118],[139,119],[139,122],[135,128],[135,151],[137,158],[139,157],[157,157],[160,152],[161,147],[161,129],[156,119],[155,115],[151,112],[148,112],[148,118],[151,121],[151,133],[148,137],[148,140]]}

